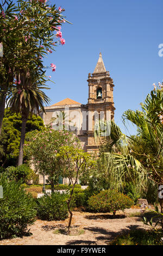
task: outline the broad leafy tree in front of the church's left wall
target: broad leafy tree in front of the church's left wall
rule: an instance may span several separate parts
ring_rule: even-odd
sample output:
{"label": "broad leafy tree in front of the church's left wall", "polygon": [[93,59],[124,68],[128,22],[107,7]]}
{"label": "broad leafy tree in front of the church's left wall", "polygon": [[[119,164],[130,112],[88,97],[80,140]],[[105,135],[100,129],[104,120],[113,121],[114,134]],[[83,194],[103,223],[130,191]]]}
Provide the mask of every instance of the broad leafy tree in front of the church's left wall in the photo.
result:
{"label": "broad leafy tree in front of the church's left wall", "polygon": [[78,144],[78,138],[69,131],[45,129],[28,134],[27,143],[24,145],[27,157],[34,164],[36,172],[43,176],[48,175],[52,193],[54,192],[54,185],[58,184],[59,176],[65,177],[64,162],[58,156],[60,147],[65,145],[77,147]]}

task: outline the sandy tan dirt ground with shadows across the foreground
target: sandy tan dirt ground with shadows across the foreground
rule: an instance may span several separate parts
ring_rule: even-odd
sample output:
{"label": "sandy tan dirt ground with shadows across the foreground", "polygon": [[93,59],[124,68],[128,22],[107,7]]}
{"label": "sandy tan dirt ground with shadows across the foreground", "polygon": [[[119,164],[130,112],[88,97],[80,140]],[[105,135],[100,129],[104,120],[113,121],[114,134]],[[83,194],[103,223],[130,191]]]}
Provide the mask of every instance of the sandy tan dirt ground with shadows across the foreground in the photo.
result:
{"label": "sandy tan dirt ground with shadows across the foreground", "polygon": [[[115,217],[112,214],[74,211],[72,235],[64,233],[68,218],[65,221],[37,220],[29,227],[32,235],[1,240],[0,245],[108,245],[115,236],[125,230],[148,228],[140,217],[129,216],[134,212],[140,210],[117,211]],[[58,233],[57,230],[61,231]]]}

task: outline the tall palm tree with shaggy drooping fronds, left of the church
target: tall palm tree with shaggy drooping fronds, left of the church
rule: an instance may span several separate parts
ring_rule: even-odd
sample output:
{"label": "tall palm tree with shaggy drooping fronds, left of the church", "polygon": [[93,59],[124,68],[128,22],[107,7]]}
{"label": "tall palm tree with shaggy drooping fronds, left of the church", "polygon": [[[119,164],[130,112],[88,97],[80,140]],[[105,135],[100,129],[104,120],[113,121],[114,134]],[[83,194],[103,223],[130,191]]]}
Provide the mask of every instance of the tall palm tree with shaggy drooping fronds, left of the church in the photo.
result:
{"label": "tall palm tree with shaggy drooping fronds, left of the church", "polygon": [[[19,78],[19,80],[18,80]],[[8,107],[12,112],[22,114],[21,140],[18,155],[18,166],[23,163],[23,144],[26,134],[26,123],[29,114],[39,113],[39,108],[45,113],[43,103],[49,103],[49,98],[41,89],[48,89],[42,78],[36,78],[33,71],[21,72],[17,76],[17,86],[12,90],[12,96],[9,99]]]}

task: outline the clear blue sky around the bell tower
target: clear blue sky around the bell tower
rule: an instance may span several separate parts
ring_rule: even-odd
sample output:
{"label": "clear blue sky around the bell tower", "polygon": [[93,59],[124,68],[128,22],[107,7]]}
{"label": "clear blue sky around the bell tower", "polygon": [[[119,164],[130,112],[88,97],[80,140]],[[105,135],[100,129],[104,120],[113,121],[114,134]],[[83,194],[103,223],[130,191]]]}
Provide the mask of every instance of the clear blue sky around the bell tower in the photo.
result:
{"label": "clear blue sky around the bell tower", "polygon": [[[86,104],[87,75],[95,69],[102,52],[106,70],[114,81],[115,121],[123,132],[122,114],[140,109],[140,102],[162,82],[163,57],[159,57],[162,38],[162,0],[49,0],[65,9],[61,32],[64,46],[49,54],[45,65],[55,84],[46,92],[51,105],[70,97]],[[131,134],[134,127],[128,127]]]}

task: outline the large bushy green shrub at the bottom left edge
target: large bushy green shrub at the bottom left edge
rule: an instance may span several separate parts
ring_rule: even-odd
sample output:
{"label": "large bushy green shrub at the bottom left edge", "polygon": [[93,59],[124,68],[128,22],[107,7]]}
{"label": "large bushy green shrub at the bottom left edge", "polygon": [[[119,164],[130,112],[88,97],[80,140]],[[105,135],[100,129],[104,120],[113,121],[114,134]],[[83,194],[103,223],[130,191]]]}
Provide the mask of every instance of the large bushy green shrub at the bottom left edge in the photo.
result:
{"label": "large bushy green shrub at the bottom left edge", "polygon": [[7,174],[0,174],[3,198],[0,199],[0,238],[19,235],[35,221],[35,200],[21,187],[21,182],[9,181]]}

